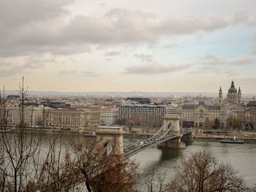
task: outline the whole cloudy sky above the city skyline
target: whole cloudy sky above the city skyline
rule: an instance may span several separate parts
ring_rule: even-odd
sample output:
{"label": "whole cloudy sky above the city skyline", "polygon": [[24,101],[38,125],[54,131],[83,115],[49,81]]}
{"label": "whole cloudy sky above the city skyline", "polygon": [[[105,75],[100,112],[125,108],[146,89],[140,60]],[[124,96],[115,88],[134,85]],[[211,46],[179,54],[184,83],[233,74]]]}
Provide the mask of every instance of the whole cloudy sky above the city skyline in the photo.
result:
{"label": "whole cloudy sky above the city skyline", "polygon": [[0,0],[0,82],[256,93],[255,0]]}

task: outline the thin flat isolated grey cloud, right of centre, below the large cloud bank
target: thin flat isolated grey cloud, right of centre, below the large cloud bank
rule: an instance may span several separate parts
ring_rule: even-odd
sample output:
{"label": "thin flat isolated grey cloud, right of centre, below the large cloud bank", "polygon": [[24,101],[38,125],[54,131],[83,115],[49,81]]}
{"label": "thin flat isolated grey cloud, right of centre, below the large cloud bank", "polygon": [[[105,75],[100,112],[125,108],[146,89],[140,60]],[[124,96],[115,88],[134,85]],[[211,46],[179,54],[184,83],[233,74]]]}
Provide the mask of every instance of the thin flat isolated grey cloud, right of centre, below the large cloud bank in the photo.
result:
{"label": "thin flat isolated grey cloud, right of centre, below the large cloud bank", "polygon": [[182,69],[187,69],[189,65],[187,64],[140,64],[135,66],[129,66],[126,69],[128,74],[163,74],[180,71]]}

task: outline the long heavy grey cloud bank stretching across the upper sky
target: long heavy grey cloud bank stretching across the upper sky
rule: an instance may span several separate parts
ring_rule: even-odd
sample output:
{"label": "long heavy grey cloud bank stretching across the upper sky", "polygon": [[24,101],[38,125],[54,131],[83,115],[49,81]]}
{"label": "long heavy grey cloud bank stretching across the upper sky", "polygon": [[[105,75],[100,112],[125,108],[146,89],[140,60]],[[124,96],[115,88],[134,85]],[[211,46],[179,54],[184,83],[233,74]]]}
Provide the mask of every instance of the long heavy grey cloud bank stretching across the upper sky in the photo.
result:
{"label": "long heavy grey cloud bank stretching across the upper sky", "polygon": [[[72,2],[72,1],[71,1]],[[0,1],[0,56],[91,51],[92,45],[155,45],[159,39],[211,32],[234,25],[223,15],[168,15],[110,9],[105,14],[71,15],[68,0]],[[236,13],[236,23],[247,22]]]}

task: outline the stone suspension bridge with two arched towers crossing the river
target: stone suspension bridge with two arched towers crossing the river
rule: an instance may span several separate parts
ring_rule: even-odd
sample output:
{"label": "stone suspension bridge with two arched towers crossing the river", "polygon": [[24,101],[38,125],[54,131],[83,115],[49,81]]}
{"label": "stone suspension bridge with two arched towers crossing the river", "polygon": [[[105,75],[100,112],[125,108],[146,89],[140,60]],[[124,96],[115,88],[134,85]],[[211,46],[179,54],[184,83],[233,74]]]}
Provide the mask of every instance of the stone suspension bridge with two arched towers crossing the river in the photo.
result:
{"label": "stone suspension bridge with two arched towers crossing the river", "polygon": [[[184,148],[182,137],[191,137],[192,131],[189,128],[180,128],[178,115],[165,115],[161,128],[152,137],[138,143],[123,142],[122,128],[99,127],[96,137],[99,142],[108,148],[107,150],[123,154],[125,158],[135,155],[148,147]],[[124,146],[124,143],[127,144]]]}

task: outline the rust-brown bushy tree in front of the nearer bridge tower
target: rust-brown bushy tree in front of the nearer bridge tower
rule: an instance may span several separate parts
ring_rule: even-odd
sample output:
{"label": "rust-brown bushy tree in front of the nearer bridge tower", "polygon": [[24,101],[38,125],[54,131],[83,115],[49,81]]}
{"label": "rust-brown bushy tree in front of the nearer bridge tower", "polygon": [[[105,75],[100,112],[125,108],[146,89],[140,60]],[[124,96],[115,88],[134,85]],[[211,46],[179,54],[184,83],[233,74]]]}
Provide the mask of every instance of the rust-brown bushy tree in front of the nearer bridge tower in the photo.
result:
{"label": "rust-brown bushy tree in front of the nearer bridge tower", "polygon": [[75,154],[75,169],[81,181],[91,191],[129,191],[138,179],[138,164],[123,155],[116,155],[115,146],[102,146],[97,139],[88,139],[85,144],[72,142]]}

